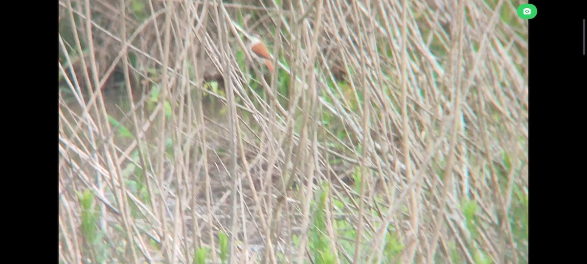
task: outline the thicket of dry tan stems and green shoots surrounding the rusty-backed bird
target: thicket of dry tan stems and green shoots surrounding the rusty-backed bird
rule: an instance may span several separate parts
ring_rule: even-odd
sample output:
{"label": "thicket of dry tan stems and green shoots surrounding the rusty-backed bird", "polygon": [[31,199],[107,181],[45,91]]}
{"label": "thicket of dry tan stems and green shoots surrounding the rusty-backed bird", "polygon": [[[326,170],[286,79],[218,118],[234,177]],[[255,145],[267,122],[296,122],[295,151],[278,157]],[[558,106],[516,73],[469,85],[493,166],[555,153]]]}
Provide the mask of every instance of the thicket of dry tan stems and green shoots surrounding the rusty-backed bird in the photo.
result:
{"label": "thicket of dry tan stems and green shoots surrounding the rusty-backed bird", "polygon": [[261,2],[59,2],[60,263],[528,263],[517,6]]}

